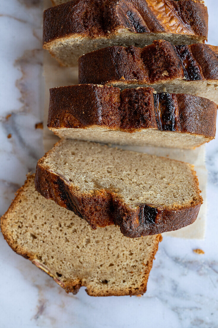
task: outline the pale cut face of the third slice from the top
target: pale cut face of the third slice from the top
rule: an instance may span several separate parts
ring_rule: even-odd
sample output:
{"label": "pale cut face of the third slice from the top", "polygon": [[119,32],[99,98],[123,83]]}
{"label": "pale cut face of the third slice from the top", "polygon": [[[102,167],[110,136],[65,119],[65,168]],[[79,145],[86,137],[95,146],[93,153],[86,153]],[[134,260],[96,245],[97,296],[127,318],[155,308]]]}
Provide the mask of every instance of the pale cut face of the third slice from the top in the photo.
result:
{"label": "pale cut face of the third slice from the top", "polygon": [[140,132],[127,133],[114,131],[99,126],[84,129],[49,128],[60,138],[103,142],[106,144],[129,146],[154,146],[167,148],[194,149],[214,139],[193,133],[159,131],[157,129],[142,129]]}

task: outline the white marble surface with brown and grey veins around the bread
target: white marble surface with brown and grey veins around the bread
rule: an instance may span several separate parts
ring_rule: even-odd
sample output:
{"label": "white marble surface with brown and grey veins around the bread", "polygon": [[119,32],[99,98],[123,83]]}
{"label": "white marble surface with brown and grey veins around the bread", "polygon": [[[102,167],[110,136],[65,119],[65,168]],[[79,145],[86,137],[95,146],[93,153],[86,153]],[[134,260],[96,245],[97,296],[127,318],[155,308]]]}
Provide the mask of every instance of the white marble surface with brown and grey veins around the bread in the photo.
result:
{"label": "white marble surface with brown and grey veins around the bread", "polygon": [[[209,43],[218,45],[218,3],[209,9]],[[41,0],[0,1],[0,214],[43,154]],[[8,114],[10,117],[6,118]],[[11,134],[11,138],[8,138]],[[205,241],[164,237],[143,297],[67,295],[0,235],[0,327],[218,327],[218,141],[206,146]],[[204,255],[193,253],[201,248]]]}

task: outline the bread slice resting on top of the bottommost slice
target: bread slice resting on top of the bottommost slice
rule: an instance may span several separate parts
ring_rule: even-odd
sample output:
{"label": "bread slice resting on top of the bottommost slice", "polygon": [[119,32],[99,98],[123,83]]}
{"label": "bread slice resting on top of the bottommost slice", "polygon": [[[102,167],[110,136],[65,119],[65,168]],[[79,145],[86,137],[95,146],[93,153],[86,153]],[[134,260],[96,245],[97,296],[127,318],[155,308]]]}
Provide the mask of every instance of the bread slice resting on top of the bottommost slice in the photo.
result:
{"label": "bread slice resting on top of the bottommost slice", "polygon": [[93,229],[115,224],[132,238],[187,226],[202,203],[192,165],[87,141],[56,143],[35,186]]}

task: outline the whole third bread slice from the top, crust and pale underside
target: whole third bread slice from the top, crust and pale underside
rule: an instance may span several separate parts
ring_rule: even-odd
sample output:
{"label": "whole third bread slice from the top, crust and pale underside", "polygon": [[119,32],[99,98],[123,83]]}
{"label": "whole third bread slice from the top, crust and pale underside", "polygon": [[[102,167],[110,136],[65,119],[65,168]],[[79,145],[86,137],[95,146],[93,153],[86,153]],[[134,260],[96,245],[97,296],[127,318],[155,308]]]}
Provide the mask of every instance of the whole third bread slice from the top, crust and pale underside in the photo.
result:
{"label": "whole third bread slice from the top, crust and pale underside", "polygon": [[80,84],[50,89],[47,126],[71,139],[190,149],[215,138],[216,113],[193,95]]}

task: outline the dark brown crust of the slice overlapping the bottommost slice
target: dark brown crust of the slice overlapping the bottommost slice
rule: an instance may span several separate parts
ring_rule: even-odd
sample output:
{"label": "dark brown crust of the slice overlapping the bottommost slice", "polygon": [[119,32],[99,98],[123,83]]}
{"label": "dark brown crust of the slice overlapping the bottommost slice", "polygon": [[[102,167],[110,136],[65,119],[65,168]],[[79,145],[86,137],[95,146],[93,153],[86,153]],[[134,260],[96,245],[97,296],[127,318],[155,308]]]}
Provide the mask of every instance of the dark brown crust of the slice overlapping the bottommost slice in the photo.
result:
{"label": "dark brown crust of the slice overlapping the bottommost slice", "polygon": [[[58,142],[59,143],[59,142]],[[58,143],[56,145],[58,145]],[[45,198],[53,199],[62,207],[85,219],[92,229],[118,225],[121,233],[130,238],[157,235],[192,224],[202,204],[198,180],[193,167],[197,199],[183,206],[160,206],[139,204],[133,209],[117,194],[116,190],[94,190],[91,194],[81,193],[74,183],[49,170],[43,165],[45,154],[37,164],[35,187]]]}

